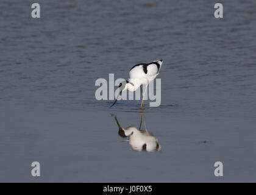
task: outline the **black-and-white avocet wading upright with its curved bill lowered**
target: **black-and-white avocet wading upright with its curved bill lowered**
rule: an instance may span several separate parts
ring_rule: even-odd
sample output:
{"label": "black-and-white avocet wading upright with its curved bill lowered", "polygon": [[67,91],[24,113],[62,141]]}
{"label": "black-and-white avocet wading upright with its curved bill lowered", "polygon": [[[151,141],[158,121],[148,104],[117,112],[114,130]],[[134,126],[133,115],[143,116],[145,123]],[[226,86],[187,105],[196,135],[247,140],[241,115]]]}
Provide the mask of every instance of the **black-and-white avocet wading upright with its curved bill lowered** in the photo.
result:
{"label": "black-and-white avocet wading upright with its curved bill lowered", "polygon": [[[119,84],[118,96],[124,90],[136,91],[140,87],[141,94],[142,94],[142,101],[141,101],[140,108],[142,108],[142,105],[144,107],[144,97],[146,94],[147,87],[149,83],[152,82],[152,80],[154,80],[155,77],[157,77],[157,75],[159,74],[162,63],[163,63],[163,60],[156,60],[151,63],[139,63],[138,65],[133,66],[129,72],[130,74],[129,81],[124,80]],[[146,85],[144,94],[142,90],[142,85]],[[116,104],[117,100],[118,100],[118,97],[116,98],[112,106]]]}

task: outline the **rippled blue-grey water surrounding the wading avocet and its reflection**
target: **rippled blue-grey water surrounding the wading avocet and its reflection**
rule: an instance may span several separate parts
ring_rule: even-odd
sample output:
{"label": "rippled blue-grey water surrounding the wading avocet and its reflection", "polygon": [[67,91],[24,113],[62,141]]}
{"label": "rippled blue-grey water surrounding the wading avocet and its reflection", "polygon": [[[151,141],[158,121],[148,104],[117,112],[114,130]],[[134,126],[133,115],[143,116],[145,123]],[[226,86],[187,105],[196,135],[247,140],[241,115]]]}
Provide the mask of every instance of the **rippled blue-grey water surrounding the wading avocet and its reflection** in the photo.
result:
{"label": "rippled blue-grey water surrounding the wading avocet and its reflection", "polygon": [[[256,182],[256,1],[0,2],[0,182]],[[163,59],[146,127],[140,102],[97,101],[95,81]],[[31,176],[39,161],[41,176]],[[221,161],[224,176],[215,177]]]}

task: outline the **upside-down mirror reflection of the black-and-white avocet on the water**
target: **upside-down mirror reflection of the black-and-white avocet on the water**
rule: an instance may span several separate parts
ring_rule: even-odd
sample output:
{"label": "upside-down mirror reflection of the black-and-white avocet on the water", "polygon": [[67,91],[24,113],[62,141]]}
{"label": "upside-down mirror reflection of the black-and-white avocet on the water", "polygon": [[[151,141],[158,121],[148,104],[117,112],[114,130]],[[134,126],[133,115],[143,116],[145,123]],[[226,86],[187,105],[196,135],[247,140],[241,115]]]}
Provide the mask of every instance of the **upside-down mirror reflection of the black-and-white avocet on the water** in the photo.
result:
{"label": "upside-down mirror reflection of the black-and-white avocet on the water", "polygon": [[[118,134],[120,137],[129,138],[129,144],[132,146],[132,149],[135,151],[160,151],[161,146],[158,143],[156,137],[152,133],[148,132],[145,124],[144,113],[141,112],[141,121],[140,127],[137,129],[134,126],[129,126],[127,128],[121,127],[118,122],[117,117],[115,116],[116,123],[118,125]],[[144,126],[144,130],[141,130],[141,126]]]}

